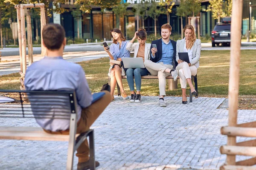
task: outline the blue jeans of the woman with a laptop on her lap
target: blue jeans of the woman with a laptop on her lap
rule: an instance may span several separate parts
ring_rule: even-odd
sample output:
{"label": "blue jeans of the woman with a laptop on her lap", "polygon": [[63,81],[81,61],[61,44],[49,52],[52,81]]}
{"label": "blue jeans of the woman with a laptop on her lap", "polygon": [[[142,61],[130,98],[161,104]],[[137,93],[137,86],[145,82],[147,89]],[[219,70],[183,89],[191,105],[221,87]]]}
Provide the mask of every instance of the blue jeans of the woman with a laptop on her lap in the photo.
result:
{"label": "blue jeans of the woman with a laptop on her lap", "polygon": [[[134,91],[134,79],[137,91],[141,88],[141,76],[148,75],[148,70],[146,68],[128,68],[126,71],[127,82],[130,91]],[[134,79],[133,79],[134,77]]]}

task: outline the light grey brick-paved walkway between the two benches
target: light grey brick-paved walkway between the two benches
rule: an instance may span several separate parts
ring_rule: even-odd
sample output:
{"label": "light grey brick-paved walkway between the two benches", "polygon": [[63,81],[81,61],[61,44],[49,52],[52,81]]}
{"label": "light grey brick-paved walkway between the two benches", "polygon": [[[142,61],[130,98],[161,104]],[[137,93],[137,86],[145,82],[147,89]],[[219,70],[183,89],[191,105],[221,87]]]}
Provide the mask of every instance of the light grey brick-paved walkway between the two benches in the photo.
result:
{"label": "light grey brick-paved walkway between the two benches", "polygon": [[[137,104],[116,97],[93,124],[98,170],[217,170],[224,163],[219,147],[227,138],[220,128],[227,125],[228,110],[218,109],[224,98],[199,97],[183,105],[180,97],[166,97],[166,108],[158,106],[156,96],[142,99]],[[239,110],[239,123],[255,119],[256,110]],[[0,124],[38,126],[34,119],[0,118]],[[1,170],[65,169],[67,142],[0,143]],[[74,169],[76,164],[77,158]]]}

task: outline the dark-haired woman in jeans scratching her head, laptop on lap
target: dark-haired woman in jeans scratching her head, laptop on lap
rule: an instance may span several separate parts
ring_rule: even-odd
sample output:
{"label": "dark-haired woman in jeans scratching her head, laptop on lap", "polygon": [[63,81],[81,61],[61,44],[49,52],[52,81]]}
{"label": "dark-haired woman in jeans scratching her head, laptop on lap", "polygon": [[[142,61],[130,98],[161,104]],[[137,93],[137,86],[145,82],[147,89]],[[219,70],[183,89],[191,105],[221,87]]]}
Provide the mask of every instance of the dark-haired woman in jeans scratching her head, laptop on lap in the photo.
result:
{"label": "dark-haired woman in jeans scratching her head, laptop on lap", "polygon": [[[133,43],[136,38],[138,39],[138,42]],[[146,43],[146,40],[147,34],[145,32],[145,29],[140,28],[138,31],[135,32],[133,39],[126,46],[126,49],[128,51],[134,51],[134,57],[142,57],[144,62],[150,58],[149,55],[151,44]],[[126,70],[127,82],[131,91],[130,102],[141,102],[141,76],[148,75],[148,73],[149,72],[146,68],[128,68]],[[134,92],[134,79],[137,94]]]}

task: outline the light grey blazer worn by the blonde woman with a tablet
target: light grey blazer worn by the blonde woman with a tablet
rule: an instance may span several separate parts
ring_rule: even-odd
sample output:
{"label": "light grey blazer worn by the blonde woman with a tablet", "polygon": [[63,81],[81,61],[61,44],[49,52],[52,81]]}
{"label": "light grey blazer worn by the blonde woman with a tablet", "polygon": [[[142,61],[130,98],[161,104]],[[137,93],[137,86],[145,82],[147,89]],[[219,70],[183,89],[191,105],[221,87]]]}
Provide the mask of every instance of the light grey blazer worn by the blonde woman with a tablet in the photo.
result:
{"label": "light grey blazer worn by the blonde woman with a tablet", "polygon": [[[182,40],[177,40],[176,44],[176,61],[178,62],[179,59],[179,52],[183,52],[183,48],[185,45],[185,38]],[[196,68],[199,67],[199,59],[201,56],[201,40],[196,39],[194,42],[194,45],[192,46],[193,54],[192,54],[192,60],[190,61],[191,65],[195,65]]]}

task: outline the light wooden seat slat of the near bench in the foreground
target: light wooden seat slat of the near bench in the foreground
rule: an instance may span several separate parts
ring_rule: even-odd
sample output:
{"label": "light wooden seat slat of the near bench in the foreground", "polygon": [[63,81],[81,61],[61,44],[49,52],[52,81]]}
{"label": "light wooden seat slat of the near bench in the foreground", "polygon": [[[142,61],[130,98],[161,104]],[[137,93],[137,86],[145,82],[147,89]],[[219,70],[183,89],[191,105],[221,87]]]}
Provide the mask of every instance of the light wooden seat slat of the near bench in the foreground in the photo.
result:
{"label": "light wooden seat slat of the near bench in the foreground", "polygon": [[0,139],[69,141],[69,135],[46,133],[41,127],[0,127]]}

